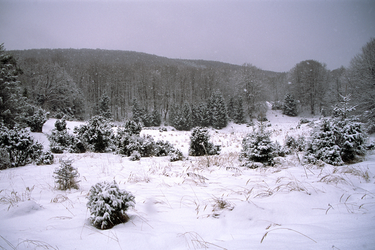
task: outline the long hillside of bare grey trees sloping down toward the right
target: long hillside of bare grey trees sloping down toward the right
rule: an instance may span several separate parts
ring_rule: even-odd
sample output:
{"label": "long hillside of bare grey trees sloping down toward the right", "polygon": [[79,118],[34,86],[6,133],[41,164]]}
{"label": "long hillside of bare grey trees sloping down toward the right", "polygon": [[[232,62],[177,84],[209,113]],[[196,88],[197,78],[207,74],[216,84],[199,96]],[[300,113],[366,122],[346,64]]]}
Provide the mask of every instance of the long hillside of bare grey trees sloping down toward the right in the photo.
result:
{"label": "long hillside of bare grey trees sloping down toward the right", "polygon": [[24,72],[20,76],[23,91],[34,105],[81,117],[95,113],[104,93],[110,97],[115,119],[131,113],[132,99],[150,111],[160,110],[166,117],[171,105],[198,105],[217,90],[227,101],[242,95],[245,104],[252,107],[260,101],[281,100],[284,94],[277,93],[272,86],[272,79],[283,73],[261,70],[251,64],[240,66],[103,49],[7,52],[18,58]]}

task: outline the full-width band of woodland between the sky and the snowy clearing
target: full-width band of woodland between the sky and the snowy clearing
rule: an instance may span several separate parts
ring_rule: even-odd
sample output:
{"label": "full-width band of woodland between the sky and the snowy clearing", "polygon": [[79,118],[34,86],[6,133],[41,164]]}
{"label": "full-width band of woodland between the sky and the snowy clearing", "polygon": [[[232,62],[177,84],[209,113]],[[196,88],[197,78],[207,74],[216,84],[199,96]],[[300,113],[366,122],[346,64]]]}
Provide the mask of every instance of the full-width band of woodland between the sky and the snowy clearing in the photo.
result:
{"label": "full-width band of woodland between the sky and the snowy clearing", "polygon": [[289,94],[297,112],[320,114],[333,112],[340,96],[352,94],[357,112],[366,122],[374,121],[374,43],[371,39],[363,46],[347,68],[331,71],[324,63],[305,60],[282,73],[246,63],[169,59],[132,51],[5,51],[1,45],[2,70],[11,71],[2,72],[9,79],[1,79],[1,118],[14,120],[12,115],[20,113],[25,102],[52,116],[85,120],[99,113],[105,95],[114,120],[131,118],[136,100],[144,111],[165,121],[171,116],[169,123],[178,126],[174,115],[183,107],[189,112],[189,106],[193,117],[205,117],[214,93],[222,96],[229,120],[234,120],[234,102],[241,102],[245,117],[253,118],[269,103],[281,108]]}

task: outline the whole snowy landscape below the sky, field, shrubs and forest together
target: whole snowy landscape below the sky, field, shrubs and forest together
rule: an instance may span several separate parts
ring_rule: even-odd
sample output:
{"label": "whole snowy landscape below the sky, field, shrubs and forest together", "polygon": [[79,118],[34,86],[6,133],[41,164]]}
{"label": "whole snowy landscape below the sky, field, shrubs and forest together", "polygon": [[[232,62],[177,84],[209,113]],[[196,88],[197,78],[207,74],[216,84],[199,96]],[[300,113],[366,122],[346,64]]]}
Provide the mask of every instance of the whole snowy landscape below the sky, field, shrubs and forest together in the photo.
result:
{"label": "whole snowy landscape below the sky, field, shrubs and forest together", "polygon": [[375,38],[288,72],[0,45],[0,249],[372,249]]}

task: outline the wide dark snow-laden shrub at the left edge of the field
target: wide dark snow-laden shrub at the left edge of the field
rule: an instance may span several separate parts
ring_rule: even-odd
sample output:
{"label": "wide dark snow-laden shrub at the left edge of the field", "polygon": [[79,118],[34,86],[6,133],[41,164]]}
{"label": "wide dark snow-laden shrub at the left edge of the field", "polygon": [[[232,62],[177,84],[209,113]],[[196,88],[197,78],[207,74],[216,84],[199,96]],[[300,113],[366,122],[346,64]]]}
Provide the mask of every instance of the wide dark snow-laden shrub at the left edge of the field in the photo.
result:
{"label": "wide dark snow-laden shrub at the left edge of the field", "polygon": [[0,127],[0,148],[7,150],[12,166],[24,166],[39,158],[43,146],[26,129]]}

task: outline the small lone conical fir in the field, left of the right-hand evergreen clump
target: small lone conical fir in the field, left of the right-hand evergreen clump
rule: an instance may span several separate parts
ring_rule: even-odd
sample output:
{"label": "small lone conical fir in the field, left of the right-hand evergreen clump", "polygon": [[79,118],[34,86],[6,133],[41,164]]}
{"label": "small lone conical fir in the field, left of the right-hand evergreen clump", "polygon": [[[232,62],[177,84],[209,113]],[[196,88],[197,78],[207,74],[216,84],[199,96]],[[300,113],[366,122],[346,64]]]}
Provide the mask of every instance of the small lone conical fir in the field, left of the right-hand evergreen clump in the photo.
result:
{"label": "small lone conical fir in the field, left of the right-hand evergreen clump", "polygon": [[264,165],[272,165],[276,156],[275,145],[270,140],[271,132],[266,130],[265,122],[257,123],[258,130],[248,133],[242,140],[240,160],[245,166],[256,166],[252,162],[260,162]]}

